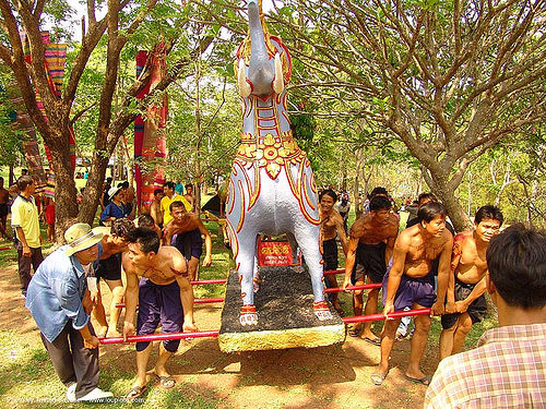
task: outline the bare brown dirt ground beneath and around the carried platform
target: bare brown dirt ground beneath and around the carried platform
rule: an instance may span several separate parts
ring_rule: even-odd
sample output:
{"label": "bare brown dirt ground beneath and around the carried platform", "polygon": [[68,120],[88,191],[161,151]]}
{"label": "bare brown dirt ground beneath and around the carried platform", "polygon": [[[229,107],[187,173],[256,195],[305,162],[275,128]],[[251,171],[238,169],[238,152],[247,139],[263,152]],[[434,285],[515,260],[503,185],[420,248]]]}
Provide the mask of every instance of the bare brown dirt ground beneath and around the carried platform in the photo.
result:
{"label": "bare brown dirt ground beneath and around the carried platform", "polygon": [[[39,347],[38,330],[19,297],[16,266],[0,269],[0,330],[15,330],[25,342]],[[109,291],[104,292],[108,300]],[[222,305],[200,304],[195,310],[201,330],[219,327]],[[135,371],[133,348],[100,347],[102,368],[115,366],[116,373],[130,377]],[[182,341],[168,369],[177,387],[190,385],[211,407],[419,408],[426,387],[404,378],[408,350],[408,341],[395,344],[392,369],[381,386],[369,381],[379,361],[379,347],[352,337],[341,346],[232,354],[223,353],[214,338]],[[150,368],[155,358],[153,354]],[[431,375],[438,364],[436,347],[427,348],[423,363],[425,373]],[[55,373],[50,376],[57,380]]]}

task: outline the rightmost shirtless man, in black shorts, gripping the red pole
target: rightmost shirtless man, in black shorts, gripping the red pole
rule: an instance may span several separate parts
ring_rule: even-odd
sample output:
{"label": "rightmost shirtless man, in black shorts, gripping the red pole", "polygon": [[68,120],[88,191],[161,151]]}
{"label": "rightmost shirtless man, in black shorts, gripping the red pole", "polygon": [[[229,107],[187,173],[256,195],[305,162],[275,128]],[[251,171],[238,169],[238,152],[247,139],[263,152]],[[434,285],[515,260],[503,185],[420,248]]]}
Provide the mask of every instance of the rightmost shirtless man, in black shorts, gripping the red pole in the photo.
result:
{"label": "rightmost shirtless man, in black shorts, gripping the red pole", "polygon": [[475,230],[463,231],[454,238],[447,299],[455,303],[455,313],[441,317],[440,360],[459,352],[472,326],[484,318],[487,311],[485,253],[502,221],[500,209],[483,206],[474,217]]}

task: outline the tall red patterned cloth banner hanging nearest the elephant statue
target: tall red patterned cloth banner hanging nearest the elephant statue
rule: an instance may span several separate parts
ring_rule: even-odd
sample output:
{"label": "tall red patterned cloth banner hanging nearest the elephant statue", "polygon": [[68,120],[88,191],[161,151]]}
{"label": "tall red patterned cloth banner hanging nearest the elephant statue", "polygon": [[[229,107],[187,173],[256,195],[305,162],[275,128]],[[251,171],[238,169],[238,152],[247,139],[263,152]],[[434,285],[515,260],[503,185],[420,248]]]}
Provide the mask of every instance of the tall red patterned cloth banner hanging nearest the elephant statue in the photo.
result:
{"label": "tall red patterned cloth banner hanging nearest the elephant statue", "polygon": [[[139,51],[136,55],[136,77],[146,64],[149,55]],[[150,82],[136,95],[143,99],[159,83],[167,72],[166,51],[159,44],[151,56],[152,73]],[[150,106],[143,118],[134,120],[134,179],[136,181],[136,201],[139,206],[149,207],[154,202],[154,190],[165,183],[165,157],[167,155],[166,124],[168,117],[168,98]]]}

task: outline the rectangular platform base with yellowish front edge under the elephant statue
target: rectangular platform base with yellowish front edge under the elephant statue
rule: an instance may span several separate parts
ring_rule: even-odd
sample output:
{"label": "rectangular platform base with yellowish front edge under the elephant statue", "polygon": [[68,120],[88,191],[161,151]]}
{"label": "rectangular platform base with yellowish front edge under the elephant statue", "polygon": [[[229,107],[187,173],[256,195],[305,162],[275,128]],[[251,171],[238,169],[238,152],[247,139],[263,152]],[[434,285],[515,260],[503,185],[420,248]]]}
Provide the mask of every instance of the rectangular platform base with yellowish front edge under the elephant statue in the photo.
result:
{"label": "rectangular platform base with yellowish front edge under the elephant statue", "polygon": [[261,267],[262,282],[254,293],[258,325],[242,326],[237,273],[229,274],[218,335],[224,352],[313,348],[345,340],[345,325],[330,306],[332,320],[319,321],[312,310],[311,279],[289,267]]}

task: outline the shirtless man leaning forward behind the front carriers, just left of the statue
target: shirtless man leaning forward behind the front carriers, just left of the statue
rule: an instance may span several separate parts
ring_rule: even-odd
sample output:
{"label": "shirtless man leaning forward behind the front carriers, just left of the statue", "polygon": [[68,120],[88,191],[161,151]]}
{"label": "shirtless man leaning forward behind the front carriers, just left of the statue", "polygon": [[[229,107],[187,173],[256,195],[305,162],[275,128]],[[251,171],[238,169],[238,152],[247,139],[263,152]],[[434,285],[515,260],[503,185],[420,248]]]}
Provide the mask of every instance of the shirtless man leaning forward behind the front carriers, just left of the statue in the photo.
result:
{"label": "shirtless man leaning forward behind the front carriers, just left of the statue", "polygon": [[203,267],[212,263],[212,239],[199,216],[187,212],[182,202],[173,202],[169,206],[171,220],[163,228],[164,243],[174,245],[188,261],[190,280],[195,279],[199,258],[203,253],[203,239],[205,237],[205,257]]}

